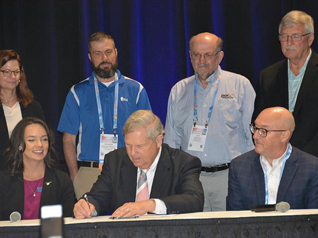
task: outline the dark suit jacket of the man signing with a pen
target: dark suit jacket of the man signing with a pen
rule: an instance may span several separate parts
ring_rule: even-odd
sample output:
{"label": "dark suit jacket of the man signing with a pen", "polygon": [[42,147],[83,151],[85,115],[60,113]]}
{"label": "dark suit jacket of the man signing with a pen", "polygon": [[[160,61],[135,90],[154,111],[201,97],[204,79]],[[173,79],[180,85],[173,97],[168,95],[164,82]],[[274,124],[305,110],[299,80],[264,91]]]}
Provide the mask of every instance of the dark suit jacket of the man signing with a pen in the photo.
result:
{"label": "dark suit jacket of the man signing with a pen", "polygon": [[[162,144],[150,198],[161,199],[167,214],[202,212],[204,194],[199,180],[201,161],[179,149]],[[101,175],[87,193],[99,216],[114,212],[126,202],[135,202],[137,167],[126,148],[105,156]]]}

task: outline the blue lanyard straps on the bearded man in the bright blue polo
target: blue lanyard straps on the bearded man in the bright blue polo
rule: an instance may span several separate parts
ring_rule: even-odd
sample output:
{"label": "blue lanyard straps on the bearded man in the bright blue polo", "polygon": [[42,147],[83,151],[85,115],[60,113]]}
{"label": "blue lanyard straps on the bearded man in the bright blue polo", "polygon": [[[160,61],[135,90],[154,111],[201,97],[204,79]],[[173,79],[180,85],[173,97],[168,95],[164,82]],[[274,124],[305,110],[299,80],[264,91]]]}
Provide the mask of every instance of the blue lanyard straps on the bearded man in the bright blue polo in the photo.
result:
{"label": "blue lanyard straps on the bearded man in the bright blue polo", "polygon": [[[103,114],[101,111],[101,104],[100,104],[100,97],[99,97],[99,90],[98,90],[98,79],[96,78],[95,72],[91,74],[91,77],[94,80],[94,86],[95,86],[95,95],[96,95],[96,102],[97,102],[97,110],[98,110],[98,118],[99,118],[99,128],[101,130],[101,133],[104,134],[104,121],[103,121]],[[116,136],[116,130],[117,130],[117,106],[118,106],[118,75],[115,74],[115,98],[114,98],[114,136]]]}

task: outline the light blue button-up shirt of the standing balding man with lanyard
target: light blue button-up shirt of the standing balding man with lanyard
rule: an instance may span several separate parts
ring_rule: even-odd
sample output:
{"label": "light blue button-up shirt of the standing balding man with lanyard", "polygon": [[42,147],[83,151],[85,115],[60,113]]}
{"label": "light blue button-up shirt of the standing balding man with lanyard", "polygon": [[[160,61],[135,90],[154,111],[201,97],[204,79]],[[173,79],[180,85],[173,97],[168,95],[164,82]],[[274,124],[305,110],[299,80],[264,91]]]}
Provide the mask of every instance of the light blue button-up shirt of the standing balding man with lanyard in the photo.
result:
{"label": "light blue button-up shirt of the standing balding man with lanyard", "polygon": [[219,66],[208,79],[208,86],[198,85],[198,121],[204,125],[217,76],[221,75],[203,152],[189,151],[188,142],[193,125],[194,75],[177,82],[171,89],[164,142],[173,148],[201,159],[202,166],[216,166],[254,149],[249,123],[254,110],[255,92],[242,75],[222,70]]}

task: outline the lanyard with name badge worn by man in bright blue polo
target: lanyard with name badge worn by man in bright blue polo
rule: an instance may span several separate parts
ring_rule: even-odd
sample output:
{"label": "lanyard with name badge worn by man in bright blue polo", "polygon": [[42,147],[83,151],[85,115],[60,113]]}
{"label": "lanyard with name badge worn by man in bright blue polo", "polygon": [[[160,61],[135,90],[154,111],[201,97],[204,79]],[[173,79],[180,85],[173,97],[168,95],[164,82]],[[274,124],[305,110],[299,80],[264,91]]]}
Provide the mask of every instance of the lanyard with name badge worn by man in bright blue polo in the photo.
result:
{"label": "lanyard with name badge worn by man in bright blue polo", "polygon": [[98,79],[96,78],[95,72],[92,74],[94,78],[94,86],[95,86],[95,95],[97,102],[97,110],[98,110],[98,119],[99,119],[99,129],[100,129],[100,138],[99,138],[99,169],[102,169],[104,164],[104,158],[107,153],[110,151],[116,150],[118,146],[118,134],[117,131],[117,106],[118,106],[118,75],[115,73],[115,98],[114,98],[114,116],[113,116],[113,134],[104,134],[104,121],[103,114],[101,111],[101,103],[99,97],[98,90]]}

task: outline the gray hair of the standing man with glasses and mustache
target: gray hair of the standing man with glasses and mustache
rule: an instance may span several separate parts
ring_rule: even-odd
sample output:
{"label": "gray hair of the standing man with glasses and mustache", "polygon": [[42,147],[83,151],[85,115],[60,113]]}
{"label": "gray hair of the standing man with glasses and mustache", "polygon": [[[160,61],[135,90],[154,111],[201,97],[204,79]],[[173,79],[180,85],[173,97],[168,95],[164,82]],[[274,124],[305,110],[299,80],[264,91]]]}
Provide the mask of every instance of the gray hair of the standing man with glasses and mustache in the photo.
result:
{"label": "gray hair of the standing man with glasses and mustache", "polygon": [[283,26],[293,26],[294,24],[304,24],[306,33],[314,33],[314,19],[303,11],[288,12],[279,23],[278,33],[280,34]]}

